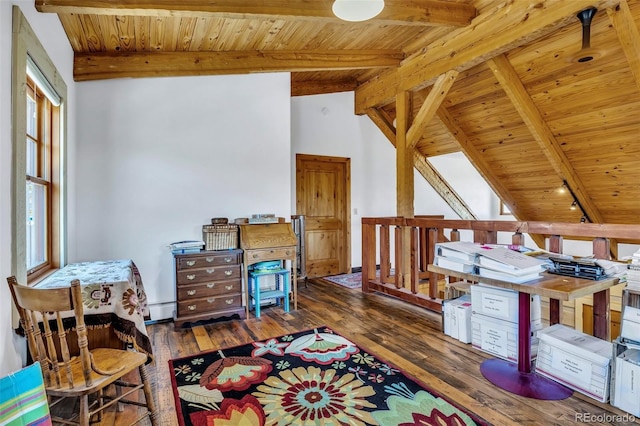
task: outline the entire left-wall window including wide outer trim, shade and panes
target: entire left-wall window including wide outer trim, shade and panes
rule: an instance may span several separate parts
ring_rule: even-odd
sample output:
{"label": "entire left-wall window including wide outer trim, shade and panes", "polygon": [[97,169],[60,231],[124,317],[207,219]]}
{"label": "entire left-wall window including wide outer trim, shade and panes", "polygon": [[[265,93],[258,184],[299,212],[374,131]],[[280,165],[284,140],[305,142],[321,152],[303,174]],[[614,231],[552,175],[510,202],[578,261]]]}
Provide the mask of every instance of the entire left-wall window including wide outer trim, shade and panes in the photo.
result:
{"label": "entire left-wall window including wide outer trim, shade and panes", "polygon": [[66,263],[67,86],[18,6],[12,44],[11,268],[33,283]]}

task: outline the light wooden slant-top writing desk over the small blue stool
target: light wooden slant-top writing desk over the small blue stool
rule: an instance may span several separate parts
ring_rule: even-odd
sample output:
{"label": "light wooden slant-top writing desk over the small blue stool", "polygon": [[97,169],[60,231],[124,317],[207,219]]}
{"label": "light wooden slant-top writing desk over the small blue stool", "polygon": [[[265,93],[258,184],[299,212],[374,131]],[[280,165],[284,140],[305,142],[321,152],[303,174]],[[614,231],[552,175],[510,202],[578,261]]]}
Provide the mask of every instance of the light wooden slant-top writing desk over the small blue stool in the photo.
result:
{"label": "light wooden slant-top writing desk over the small blue stool", "polygon": [[[291,261],[293,309],[298,309],[298,277],[296,275],[296,235],[290,223],[240,225],[240,248],[243,250],[245,309],[249,317],[249,265],[266,260]],[[283,265],[285,266],[285,265]],[[286,297],[289,297],[286,295]],[[256,303],[259,303],[257,301]]]}

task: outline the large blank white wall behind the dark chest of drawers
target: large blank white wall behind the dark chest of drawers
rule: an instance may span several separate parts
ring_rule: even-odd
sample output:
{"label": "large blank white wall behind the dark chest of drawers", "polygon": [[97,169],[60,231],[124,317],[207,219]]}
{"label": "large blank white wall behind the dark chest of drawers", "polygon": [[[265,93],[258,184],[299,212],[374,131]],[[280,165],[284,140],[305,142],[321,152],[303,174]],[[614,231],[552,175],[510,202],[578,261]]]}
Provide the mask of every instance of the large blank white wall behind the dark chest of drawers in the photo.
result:
{"label": "large blank white wall behind the dark chest of drawers", "polygon": [[292,212],[289,74],[78,84],[77,254],[131,258],[173,315],[167,244],[212,217]]}

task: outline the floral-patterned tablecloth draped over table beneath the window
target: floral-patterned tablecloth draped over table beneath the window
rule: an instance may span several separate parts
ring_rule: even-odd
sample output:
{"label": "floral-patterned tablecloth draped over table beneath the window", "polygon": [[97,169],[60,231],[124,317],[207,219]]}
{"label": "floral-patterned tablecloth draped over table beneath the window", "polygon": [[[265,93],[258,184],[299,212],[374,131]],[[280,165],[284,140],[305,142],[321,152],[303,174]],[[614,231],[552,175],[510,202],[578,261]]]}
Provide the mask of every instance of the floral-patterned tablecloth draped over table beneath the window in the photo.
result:
{"label": "floral-patterned tablecloth draped over table beneath the window", "polygon": [[91,327],[113,327],[116,335],[151,355],[144,321],[149,318],[147,296],[138,268],[130,259],[69,264],[36,284],[36,288],[82,287],[85,322]]}

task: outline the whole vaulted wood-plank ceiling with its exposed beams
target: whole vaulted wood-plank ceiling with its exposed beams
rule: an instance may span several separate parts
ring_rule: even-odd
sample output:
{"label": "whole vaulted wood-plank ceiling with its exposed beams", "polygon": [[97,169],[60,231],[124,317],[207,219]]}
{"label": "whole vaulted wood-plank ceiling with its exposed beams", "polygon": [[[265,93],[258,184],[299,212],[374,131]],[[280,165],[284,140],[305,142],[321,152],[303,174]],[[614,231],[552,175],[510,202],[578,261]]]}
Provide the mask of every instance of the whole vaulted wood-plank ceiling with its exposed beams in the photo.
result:
{"label": "whole vaulted wood-plank ceiling with its exposed beams", "polygon": [[293,96],[355,91],[462,218],[429,157],[464,152],[519,220],[638,223],[640,0],[386,0],[362,23],[332,0],[35,3],[76,81],[288,71]]}

